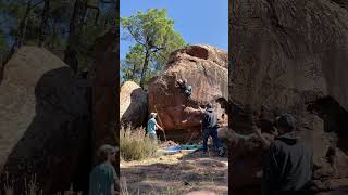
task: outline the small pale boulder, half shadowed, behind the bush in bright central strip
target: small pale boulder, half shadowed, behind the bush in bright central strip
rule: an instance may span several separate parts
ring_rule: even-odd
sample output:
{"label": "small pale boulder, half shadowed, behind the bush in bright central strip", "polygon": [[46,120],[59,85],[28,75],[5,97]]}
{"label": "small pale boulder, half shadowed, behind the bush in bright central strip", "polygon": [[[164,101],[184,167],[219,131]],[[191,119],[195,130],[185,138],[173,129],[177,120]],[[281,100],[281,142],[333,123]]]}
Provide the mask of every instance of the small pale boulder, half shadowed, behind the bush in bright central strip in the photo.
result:
{"label": "small pale boulder, half shadowed, behind the bush in bright central strip", "polygon": [[132,127],[145,125],[148,112],[147,93],[135,82],[126,81],[120,92],[121,123]]}

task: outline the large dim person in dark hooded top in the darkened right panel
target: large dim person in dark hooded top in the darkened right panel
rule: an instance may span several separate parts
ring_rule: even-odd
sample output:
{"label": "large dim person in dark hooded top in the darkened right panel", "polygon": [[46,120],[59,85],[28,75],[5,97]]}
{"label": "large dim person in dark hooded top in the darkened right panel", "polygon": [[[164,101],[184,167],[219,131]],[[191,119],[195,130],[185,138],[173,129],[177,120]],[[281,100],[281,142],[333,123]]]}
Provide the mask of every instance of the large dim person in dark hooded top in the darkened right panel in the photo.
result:
{"label": "large dim person in dark hooded top in the darkened right panel", "polygon": [[256,134],[268,148],[262,169],[262,195],[311,194],[312,152],[294,134],[295,118],[282,115],[276,120],[278,135],[270,143],[254,127]]}

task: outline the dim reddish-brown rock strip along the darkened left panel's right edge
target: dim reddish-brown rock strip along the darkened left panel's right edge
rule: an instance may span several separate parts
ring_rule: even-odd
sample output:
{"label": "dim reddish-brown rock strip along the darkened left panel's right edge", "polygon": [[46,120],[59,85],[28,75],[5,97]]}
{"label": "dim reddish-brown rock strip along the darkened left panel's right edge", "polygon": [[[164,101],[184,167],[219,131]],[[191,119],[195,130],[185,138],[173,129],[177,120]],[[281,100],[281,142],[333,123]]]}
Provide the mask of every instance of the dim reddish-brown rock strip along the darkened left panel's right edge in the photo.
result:
{"label": "dim reddish-brown rock strip along the darkened left panel's right edge", "polygon": [[[102,144],[119,145],[119,54],[117,36],[109,31],[95,44],[96,63],[90,73],[92,83],[92,147],[94,164],[98,162],[97,150]],[[119,155],[117,155],[119,156]],[[116,166],[117,168],[119,166]],[[119,172],[119,170],[116,169]]]}

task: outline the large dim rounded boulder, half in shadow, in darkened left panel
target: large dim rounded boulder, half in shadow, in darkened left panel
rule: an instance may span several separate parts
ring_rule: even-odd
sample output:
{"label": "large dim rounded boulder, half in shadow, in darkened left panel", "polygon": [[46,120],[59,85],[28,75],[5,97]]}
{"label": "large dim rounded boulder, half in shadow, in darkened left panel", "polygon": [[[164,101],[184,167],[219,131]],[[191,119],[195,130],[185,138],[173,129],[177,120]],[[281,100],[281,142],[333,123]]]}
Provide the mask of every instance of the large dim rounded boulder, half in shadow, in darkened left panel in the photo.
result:
{"label": "large dim rounded boulder, half in shadow, in darkened left panel", "polygon": [[[44,194],[88,183],[87,95],[86,80],[76,79],[45,49],[23,47],[4,66],[0,169],[10,174],[9,181],[13,177],[15,194],[24,192],[23,179],[34,174]],[[0,183],[2,187],[4,181]]]}

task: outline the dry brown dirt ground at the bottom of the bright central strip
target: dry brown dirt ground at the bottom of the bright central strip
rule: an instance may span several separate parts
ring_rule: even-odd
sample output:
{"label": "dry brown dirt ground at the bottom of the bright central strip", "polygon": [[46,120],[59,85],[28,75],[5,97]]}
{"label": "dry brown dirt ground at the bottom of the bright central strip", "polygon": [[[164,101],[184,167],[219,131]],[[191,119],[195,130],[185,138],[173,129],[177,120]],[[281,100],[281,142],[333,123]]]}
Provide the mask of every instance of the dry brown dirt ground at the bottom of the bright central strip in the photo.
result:
{"label": "dry brown dirt ground at the bottom of the bright central strip", "polygon": [[124,195],[184,195],[198,190],[228,194],[228,158],[212,153],[182,152],[120,166]]}

